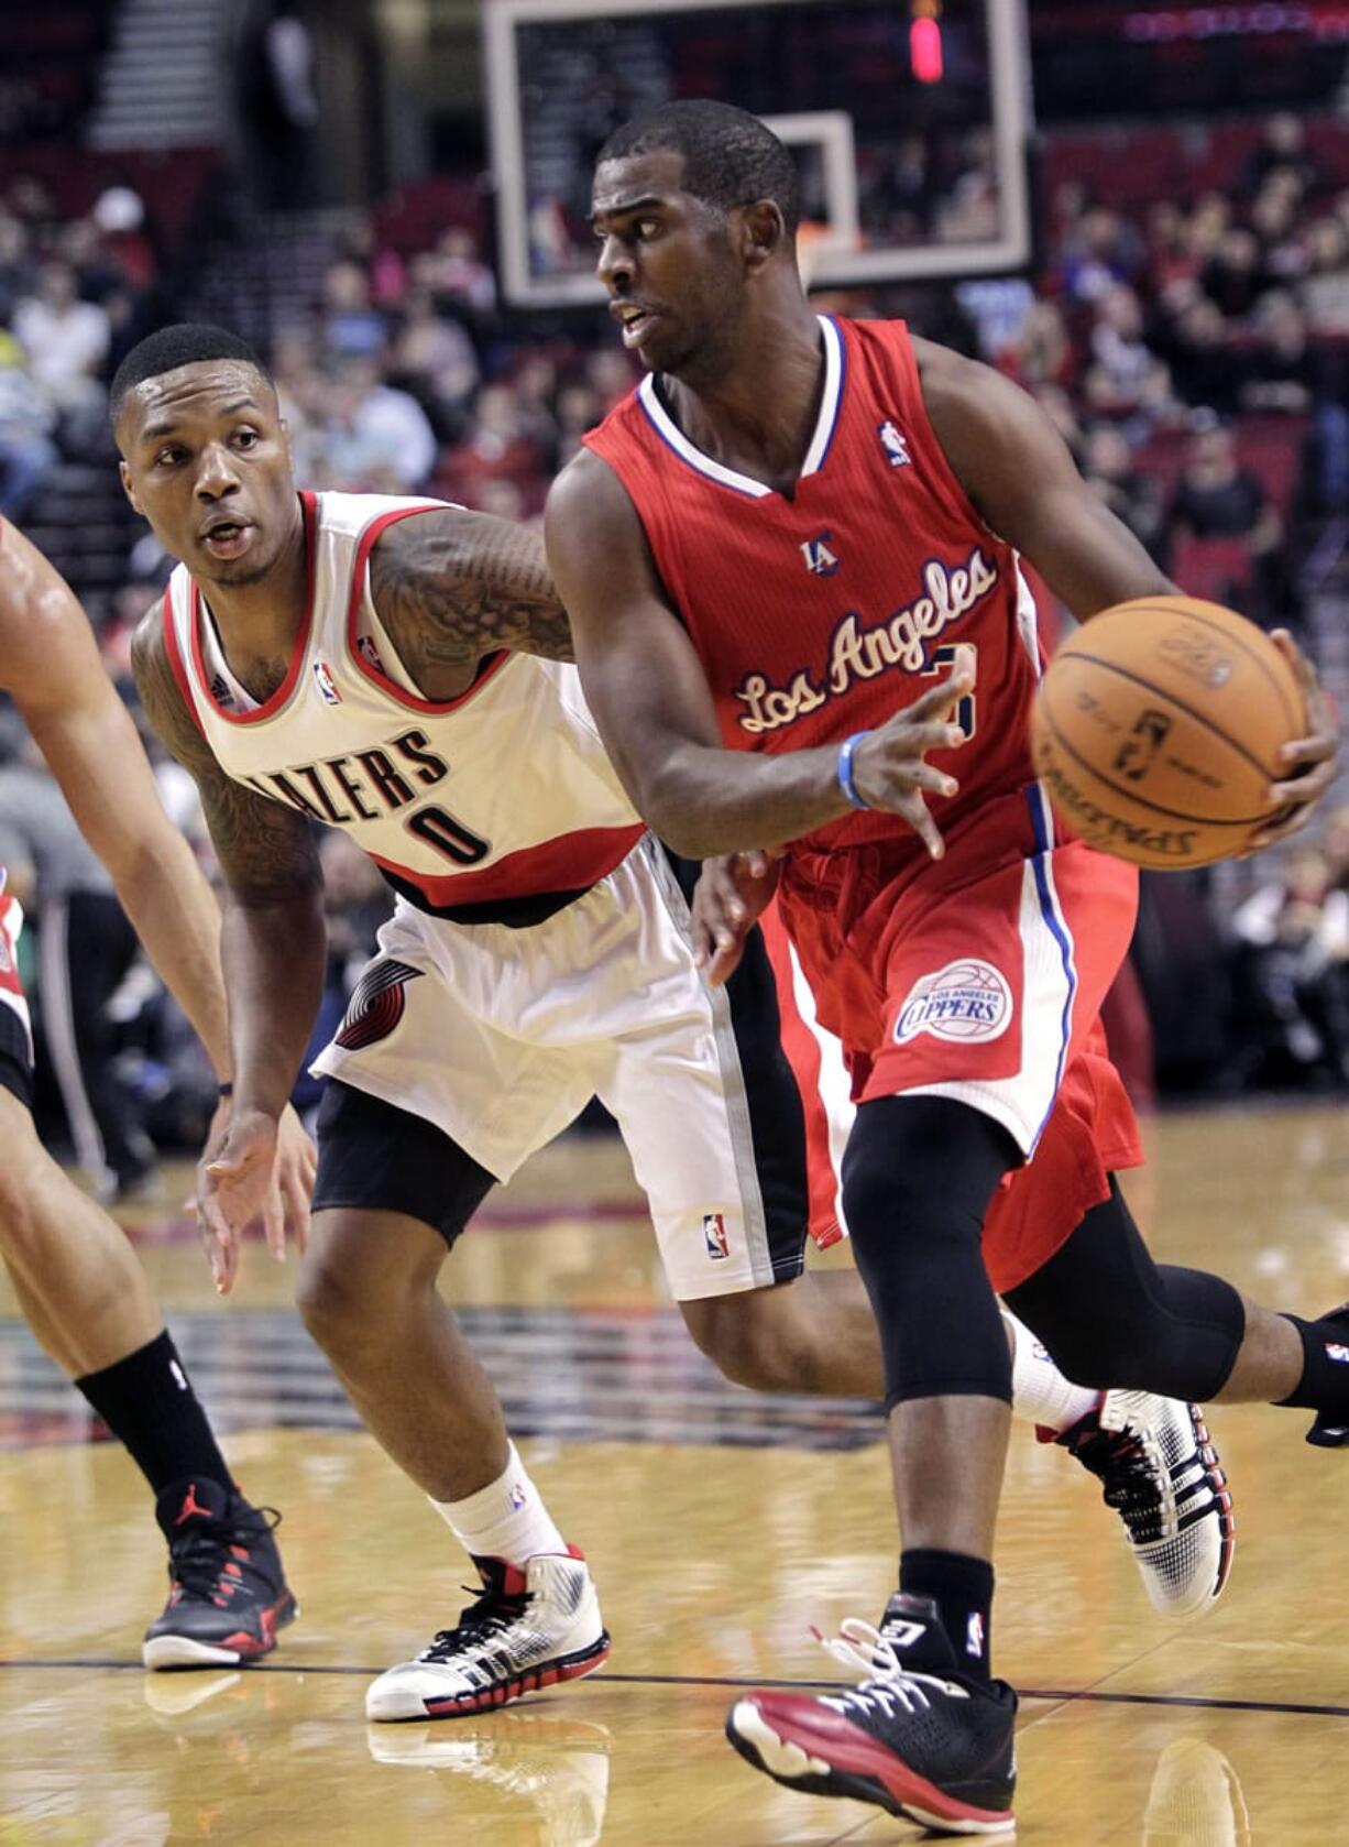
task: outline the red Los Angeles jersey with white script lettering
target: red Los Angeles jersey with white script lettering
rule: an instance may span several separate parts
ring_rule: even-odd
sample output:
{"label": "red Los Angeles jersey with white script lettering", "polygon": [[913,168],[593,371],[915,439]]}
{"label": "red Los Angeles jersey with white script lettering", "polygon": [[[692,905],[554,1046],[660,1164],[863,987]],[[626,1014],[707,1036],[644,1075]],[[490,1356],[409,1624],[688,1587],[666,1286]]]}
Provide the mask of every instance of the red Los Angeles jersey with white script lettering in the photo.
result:
{"label": "red Los Angeles jersey with white script lettering", "polygon": [[[1035,604],[937,443],[904,323],[819,327],[819,421],[790,501],[694,447],[653,375],[585,443],[640,515],[733,750],[842,742],[912,704],[956,643],[973,643],[978,682],[960,713],[973,741],[930,757],[960,781],[934,803],[947,833],[1033,779]],[[926,859],[888,815],[845,815],[810,844],[897,833]]]}

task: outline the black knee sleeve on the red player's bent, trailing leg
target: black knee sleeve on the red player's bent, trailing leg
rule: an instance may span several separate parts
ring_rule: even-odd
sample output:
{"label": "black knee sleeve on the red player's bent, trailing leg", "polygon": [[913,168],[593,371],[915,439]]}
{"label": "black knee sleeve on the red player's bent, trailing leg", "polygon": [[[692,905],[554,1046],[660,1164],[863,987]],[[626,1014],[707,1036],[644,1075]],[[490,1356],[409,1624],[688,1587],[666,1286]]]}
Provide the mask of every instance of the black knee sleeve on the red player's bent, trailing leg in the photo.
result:
{"label": "black knee sleeve on the red player's bent, trailing leg", "polygon": [[1222,1276],[1153,1263],[1115,1188],[1006,1300],[1061,1372],[1100,1391],[1212,1398],[1246,1332],[1242,1298]]}

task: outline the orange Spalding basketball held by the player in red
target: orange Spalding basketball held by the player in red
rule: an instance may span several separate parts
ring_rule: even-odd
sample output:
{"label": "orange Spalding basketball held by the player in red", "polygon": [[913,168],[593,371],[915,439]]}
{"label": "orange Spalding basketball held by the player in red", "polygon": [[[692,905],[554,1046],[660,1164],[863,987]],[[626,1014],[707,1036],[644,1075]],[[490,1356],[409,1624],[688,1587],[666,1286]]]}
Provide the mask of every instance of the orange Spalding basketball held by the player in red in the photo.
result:
{"label": "orange Spalding basketball held by the player in red", "polygon": [[1035,772],[1063,822],[1135,866],[1240,853],[1273,807],[1283,744],[1307,735],[1292,667],[1244,615],[1140,597],[1085,622],[1032,715]]}

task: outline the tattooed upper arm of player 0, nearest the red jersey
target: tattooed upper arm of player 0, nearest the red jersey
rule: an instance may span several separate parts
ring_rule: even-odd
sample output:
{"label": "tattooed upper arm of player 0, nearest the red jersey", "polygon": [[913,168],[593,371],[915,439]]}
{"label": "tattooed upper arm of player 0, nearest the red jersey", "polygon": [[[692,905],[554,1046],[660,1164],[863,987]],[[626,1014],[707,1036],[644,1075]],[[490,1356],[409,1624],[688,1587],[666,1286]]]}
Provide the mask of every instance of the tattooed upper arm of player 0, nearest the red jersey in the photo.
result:
{"label": "tattooed upper arm of player 0, nearest the red jersey", "polygon": [[543,536],[493,513],[447,506],[395,521],[371,552],[371,597],[432,698],[465,691],[502,648],[574,659]]}

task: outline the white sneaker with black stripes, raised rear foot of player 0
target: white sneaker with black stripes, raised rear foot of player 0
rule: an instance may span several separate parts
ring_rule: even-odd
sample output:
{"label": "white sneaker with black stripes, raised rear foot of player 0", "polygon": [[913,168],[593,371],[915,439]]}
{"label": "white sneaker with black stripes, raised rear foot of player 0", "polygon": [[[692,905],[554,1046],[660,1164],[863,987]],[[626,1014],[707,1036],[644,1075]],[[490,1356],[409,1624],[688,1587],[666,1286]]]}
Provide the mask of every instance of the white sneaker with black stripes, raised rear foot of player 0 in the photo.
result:
{"label": "white sneaker with black stripes, raised rear foot of player 0", "polygon": [[1198,1404],[1107,1391],[1096,1411],[1056,1441],[1104,1483],[1153,1609],[1188,1616],[1222,1596],[1236,1522]]}

